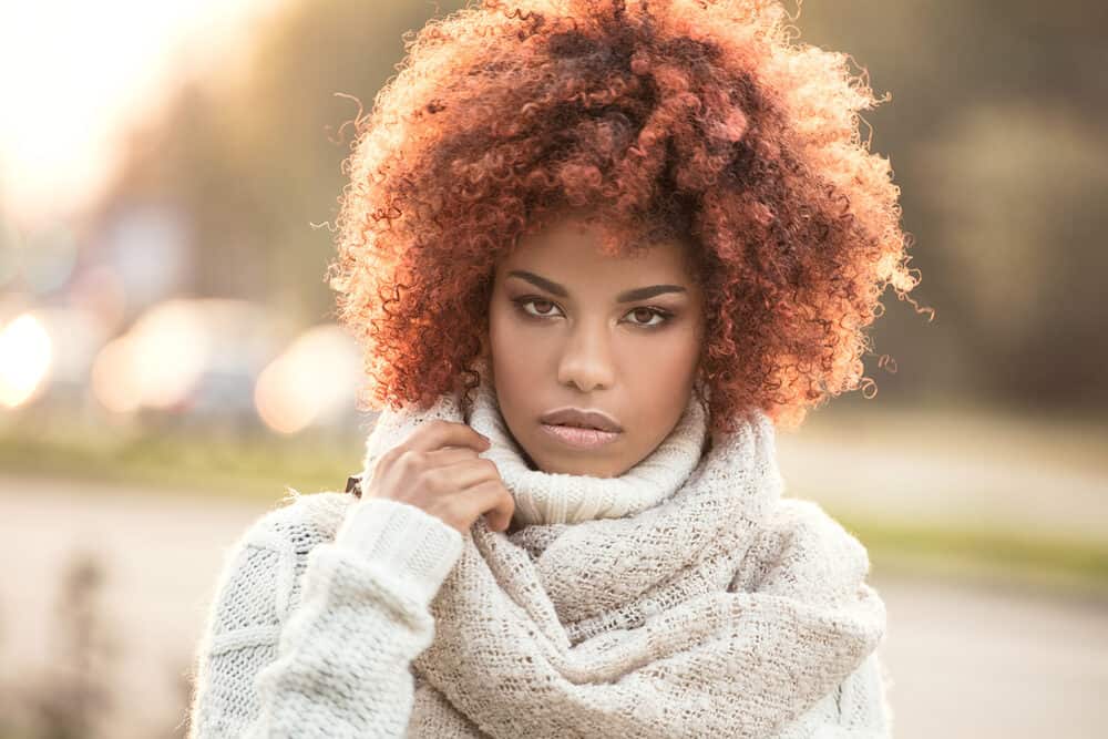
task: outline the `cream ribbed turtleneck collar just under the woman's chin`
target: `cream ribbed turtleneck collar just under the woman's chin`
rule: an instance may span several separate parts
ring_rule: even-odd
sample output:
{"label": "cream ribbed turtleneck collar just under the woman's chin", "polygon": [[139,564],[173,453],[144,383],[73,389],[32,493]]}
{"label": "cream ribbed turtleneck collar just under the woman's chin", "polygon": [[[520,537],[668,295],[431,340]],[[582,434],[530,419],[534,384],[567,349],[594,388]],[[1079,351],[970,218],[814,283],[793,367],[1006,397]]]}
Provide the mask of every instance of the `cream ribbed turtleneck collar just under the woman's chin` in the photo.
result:
{"label": "cream ribbed turtleneck collar just under the woman's chin", "polygon": [[488,371],[481,372],[466,422],[489,437],[481,456],[492,460],[515,501],[513,525],[576,523],[640,513],[676,493],[700,461],[707,415],[690,393],[669,434],[623,474],[597,478],[533,470],[500,411]]}

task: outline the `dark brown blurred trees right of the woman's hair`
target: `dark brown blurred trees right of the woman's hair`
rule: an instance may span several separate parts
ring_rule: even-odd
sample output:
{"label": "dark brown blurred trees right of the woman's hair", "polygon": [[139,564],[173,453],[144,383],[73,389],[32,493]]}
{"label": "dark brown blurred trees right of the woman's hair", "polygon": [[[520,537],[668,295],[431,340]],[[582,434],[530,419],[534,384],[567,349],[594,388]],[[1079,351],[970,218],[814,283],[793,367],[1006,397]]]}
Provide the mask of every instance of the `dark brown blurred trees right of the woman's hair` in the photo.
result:
{"label": "dark brown blurred trees right of the woman's hair", "polygon": [[899,367],[876,376],[882,393],[1108,407],[1108,6],[807,0],[797,24],[890,94],[863,117],[902,187],[916,298],[937,312],[878,321],[874,347]]}

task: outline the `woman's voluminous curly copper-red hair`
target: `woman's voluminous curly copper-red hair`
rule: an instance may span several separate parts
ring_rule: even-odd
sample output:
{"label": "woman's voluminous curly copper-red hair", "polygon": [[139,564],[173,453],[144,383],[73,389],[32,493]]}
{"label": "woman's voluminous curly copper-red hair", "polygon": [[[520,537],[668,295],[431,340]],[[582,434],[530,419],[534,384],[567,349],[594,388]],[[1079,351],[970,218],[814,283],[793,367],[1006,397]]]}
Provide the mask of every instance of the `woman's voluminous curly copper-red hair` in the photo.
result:
{"label": "woman's voluminous curly copper-red hair", "polygon": [[872,383],[864,329],[888,285],[919,283],[859,135],[882,101],[847,54],[794,44],[794,20],[769,0],[485,0],[407,33],[351,122],[328,269],[360,402],[475,387],[497,259],[585,206],[607,253],[694,246],[714,431],[753,408],[796,427]]}

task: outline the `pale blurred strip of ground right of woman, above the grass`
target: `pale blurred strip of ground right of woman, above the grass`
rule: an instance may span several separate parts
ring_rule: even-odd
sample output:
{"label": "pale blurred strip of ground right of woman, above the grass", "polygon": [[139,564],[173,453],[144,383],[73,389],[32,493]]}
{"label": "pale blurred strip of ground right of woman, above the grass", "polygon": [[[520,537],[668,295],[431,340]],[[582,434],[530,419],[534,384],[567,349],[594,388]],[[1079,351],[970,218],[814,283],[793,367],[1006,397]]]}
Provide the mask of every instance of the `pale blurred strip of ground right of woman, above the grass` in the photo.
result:
{"label": "pale blurred strip of ground right of woman, above the grass", "polygon": [[[1016,431],[968,423],[930,434],[911,425],[865,431],[863,425],[849,433],[839,427],[779,433],[778,460],[789,494],[818,500],[829,510],[916,525],[956,521],[1108,541],[1102,451],[1069,459],[1066,453],[1077,444],[1071,439],[1059,450],[1048,439],[1028,441]],[[995,437],[1005,434],[1006,443],[998,443]]]}

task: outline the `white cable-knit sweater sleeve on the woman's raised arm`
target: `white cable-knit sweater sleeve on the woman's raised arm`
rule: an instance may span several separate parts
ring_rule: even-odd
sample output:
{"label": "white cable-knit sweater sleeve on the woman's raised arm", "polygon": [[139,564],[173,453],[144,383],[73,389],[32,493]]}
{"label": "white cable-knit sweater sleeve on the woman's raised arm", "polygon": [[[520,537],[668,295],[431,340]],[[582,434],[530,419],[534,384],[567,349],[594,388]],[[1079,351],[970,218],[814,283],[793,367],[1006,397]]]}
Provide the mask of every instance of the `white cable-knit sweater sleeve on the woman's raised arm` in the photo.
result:
{"label": "white cable-knit sweater sleeve on the woman's raised arm", "polygon": [[225,560],[196,655],[188,737],[402,737],[410,665],[433,638],[429,606],[462,534],[407,503],[359,500],[334,540],[307,552],[301,601],[289,609],[304,543],[283,512],[263,516]]}

